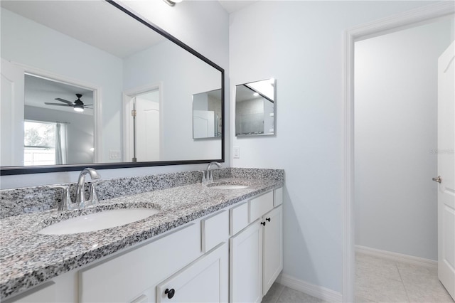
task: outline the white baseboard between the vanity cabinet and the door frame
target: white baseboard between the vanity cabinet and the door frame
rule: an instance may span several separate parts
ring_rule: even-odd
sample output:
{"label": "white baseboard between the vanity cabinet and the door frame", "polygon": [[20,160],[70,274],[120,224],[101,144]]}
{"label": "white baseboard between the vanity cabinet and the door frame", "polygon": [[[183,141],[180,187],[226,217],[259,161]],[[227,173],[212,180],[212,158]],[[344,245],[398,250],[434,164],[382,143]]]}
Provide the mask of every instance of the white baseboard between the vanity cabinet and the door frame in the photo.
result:
{"label": "white baseboard between the vanity cabinet and the door frame", "polygon": [[313,297],[322,299],[328,302],[343,302],[343,295],[341,292],[335,292],[332,289],[328,289],[326,287],[321,287],[319,285],[314,285],[295,277],[291,277],[290,275],[280,274],[277,277],[277,283],[287,286],[291,289],[297,290],[299,292],[304,292],[309,294]]}

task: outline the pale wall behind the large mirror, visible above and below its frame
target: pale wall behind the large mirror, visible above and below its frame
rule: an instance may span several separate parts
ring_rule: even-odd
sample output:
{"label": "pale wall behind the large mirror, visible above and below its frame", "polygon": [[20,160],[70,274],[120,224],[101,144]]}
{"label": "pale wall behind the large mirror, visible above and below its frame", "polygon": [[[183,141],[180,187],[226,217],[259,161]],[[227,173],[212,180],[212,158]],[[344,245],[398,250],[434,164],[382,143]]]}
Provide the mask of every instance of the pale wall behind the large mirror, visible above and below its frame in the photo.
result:
{"label": "pale wall behind the large mirror, visible above and below its frame", "polygon": [[[229,16],[216,1],[183,1],[176,6],[168,6],[164,1],[122,1],[154,24],[188,44],[205,57],[225,69],[225,87],[228,87],[229,74]],[[2,28],[3,31],[3,28]],[[3,53],[2,53],[3,55]],[[109,68],[107,68],[109,69]],[[121,87],[121,85],[119,85]],[[229,92],[225,95],[226,115],[226,160],[223,166],[229,166]],[[116,117],[117,118],[117,117]],[[120,117],[118,117],[120,119]],[[120,131],[119,131],[120,133]],[[139,176],[175,171],[205,169],[206,164],[154,166],[136,169],[103,169],[102,178],[121,176]],[[29,174],[26,176],[0,176],[1,188],[15,188],[41,184],[74,182],[78,171],[49,174]]]}

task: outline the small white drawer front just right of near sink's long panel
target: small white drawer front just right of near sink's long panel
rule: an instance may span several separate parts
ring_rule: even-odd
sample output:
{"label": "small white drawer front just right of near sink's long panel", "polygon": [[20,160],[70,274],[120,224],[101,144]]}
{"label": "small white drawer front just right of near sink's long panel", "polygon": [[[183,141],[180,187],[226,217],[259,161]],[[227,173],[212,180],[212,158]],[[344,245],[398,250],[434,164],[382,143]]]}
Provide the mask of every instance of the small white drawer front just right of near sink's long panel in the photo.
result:
{"label": "small white drawer front just right of near sink's long panel", "polygon": [[229,238],[229,213],[220,211],[215,215],[200,220],[202,232],[202,251],[208,252],[216,245]]}

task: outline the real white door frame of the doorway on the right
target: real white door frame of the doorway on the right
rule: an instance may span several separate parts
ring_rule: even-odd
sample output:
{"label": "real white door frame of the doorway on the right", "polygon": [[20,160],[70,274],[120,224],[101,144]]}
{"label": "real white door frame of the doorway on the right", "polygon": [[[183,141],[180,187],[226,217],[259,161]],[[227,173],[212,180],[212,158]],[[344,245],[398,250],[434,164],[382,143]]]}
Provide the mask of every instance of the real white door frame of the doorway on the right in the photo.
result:
{"label": "real white door frame of the doorway on the right", "polygon": [[343,302],[354,302],[354,43],[386,33],[431,23],[455,14],[452,1],[441,1],[378,21],[348,28],[343,33]]}

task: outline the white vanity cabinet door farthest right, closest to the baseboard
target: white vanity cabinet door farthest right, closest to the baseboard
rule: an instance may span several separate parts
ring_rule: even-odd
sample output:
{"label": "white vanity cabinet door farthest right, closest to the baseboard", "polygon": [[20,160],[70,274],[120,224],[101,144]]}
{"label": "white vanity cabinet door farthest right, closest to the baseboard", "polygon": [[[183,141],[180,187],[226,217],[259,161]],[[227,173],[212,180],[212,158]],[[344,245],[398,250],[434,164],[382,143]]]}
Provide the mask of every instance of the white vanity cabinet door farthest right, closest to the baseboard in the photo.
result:
{"label": "white vanity cabinet door farthest right, closest to the baseboard", "polygon": [[262,239],[262,294],[267,294],[273,282],[283,270],[283,212],[282,206],[274,208],[262,217],[265,223]]}

